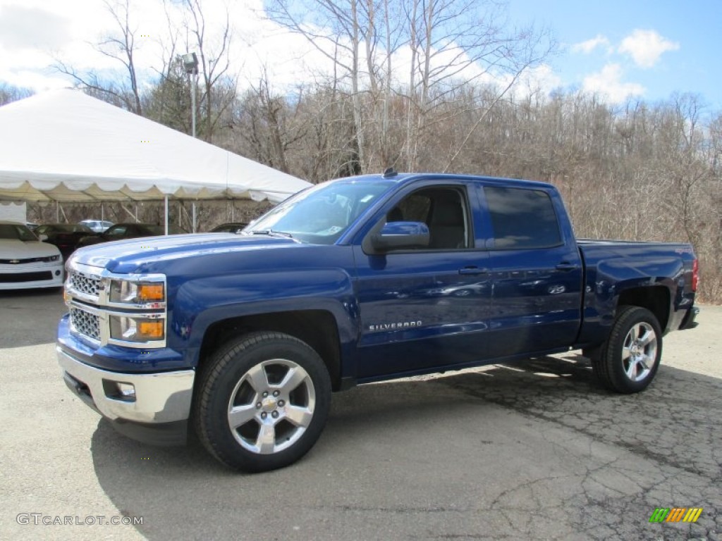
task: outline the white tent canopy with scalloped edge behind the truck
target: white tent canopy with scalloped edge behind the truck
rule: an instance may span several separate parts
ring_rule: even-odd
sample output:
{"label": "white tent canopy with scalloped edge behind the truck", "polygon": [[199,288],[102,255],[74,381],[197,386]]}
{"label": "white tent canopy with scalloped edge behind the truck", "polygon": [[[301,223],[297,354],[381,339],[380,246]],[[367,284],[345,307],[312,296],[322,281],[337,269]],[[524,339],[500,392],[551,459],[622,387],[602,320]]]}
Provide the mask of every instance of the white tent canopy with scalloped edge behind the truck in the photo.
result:
{"label": "white tent canopy with scalloped edge behind the truck", "polygon": [[0,107],[0,199],[278,203],[309,185],[79,90]]}

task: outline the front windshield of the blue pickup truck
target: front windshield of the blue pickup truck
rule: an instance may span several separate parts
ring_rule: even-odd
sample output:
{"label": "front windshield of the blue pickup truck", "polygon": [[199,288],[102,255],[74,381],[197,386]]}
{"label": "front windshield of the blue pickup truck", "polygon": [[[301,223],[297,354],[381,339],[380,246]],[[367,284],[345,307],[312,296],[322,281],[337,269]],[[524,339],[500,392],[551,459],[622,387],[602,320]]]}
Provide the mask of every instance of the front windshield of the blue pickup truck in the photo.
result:
{"label": "front windshield of the blue pickup truck", "polygon": [[272,208],[243,232],[290,234],[303,242],[330,245],[392,186],[367,180],[325,182]]}

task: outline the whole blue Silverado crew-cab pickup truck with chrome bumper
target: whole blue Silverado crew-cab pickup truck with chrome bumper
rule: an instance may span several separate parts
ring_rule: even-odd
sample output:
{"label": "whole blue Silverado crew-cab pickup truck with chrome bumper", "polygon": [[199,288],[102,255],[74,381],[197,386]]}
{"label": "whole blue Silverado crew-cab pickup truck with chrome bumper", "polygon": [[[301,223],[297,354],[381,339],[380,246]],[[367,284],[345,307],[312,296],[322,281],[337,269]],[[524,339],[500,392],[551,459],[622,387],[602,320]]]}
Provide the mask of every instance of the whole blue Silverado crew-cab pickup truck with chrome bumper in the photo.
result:
{"label": "whole blue Silverado crew-cab pickup truck with chrome bumper", "polygon": [[690,245],[575,239],[543,182],[438,174],[325,182],[240,233],[82,248],[64,379],[118,431],[223,464],[289,465],[355,384],[580,349],[643,390],[695,325]]}

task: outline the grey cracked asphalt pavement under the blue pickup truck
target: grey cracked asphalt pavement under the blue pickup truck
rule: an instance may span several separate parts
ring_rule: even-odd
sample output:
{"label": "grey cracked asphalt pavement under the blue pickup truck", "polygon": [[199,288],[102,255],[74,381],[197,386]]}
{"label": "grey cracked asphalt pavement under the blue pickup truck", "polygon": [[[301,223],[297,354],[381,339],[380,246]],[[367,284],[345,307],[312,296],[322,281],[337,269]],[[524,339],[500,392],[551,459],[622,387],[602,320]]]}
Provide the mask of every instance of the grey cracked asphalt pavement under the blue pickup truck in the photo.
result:
{"label": "grey cracked asphalt pavement under the blue pickup truck", "polygon": [[[664,340],[637,395],[576,353],[334,395],[296,465],[240,475],[199,444],[116,434],[54,354],[61,294],[0,299],[0,537],[240,540],[719,540],[722,307]],[[657,507],[702,507],[651,524]],[[138,526],[22,525],[18,513],[142,516]]]}

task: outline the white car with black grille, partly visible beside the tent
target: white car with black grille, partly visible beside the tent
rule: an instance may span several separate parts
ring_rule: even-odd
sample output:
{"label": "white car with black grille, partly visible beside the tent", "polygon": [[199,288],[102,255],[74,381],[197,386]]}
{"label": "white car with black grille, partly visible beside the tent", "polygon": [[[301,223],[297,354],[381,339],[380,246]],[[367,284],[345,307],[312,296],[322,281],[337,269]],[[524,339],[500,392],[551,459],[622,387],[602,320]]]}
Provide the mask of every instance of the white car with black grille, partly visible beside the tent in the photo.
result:
{"label": "white car with black grille, partly visible beside the tent", "polygon": [[61,287],[63,257],[25,224],[0,221],[0,289]]}

